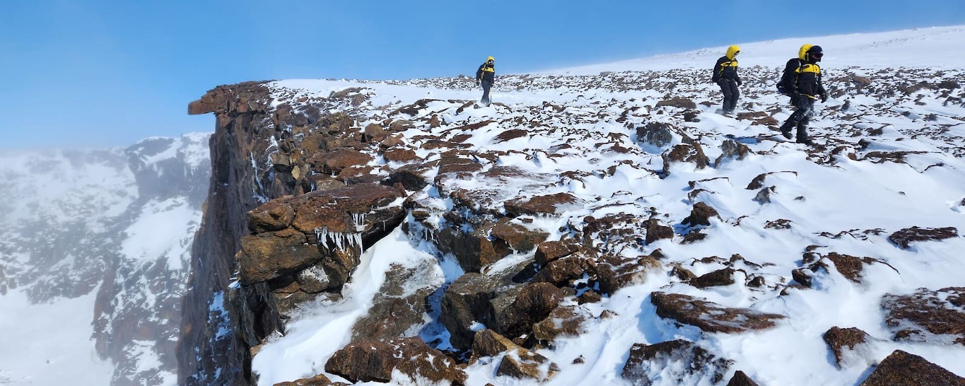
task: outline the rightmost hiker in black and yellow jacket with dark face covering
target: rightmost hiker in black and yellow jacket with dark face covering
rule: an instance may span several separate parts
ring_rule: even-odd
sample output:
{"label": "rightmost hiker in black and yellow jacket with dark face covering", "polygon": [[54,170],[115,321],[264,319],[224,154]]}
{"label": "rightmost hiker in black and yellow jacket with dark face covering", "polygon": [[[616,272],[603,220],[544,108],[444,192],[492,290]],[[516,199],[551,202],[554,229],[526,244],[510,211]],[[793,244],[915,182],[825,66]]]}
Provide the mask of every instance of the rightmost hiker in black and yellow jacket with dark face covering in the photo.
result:
{"label": "rightmost hiker in black and yellow jacket with dark face covering", "polygon": [[781,134],[791,139],[790,129],[797,126],[797,143],[813,145],[808,138],[808,124],[814,115],[814,100],[818,97],[821,102],[828,100],[828,92],[821,84],[821,68],[817,66],[824,53],[820,45],[804,44],[797,56],[787,61],[778,83],[778,92],[790,96],[794,106],[794,113],[781,125]]}

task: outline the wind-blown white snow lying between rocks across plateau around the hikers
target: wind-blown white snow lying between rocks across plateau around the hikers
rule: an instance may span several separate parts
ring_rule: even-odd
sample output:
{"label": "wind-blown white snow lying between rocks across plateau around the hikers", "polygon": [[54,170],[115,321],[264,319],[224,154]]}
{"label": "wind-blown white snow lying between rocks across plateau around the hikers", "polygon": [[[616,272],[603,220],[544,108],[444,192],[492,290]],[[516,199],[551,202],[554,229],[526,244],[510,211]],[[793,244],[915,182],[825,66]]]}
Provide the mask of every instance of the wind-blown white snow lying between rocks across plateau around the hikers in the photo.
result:
{"label": "wind-blown white snow lying between rocks across plateau around the hikers", "polygon": [[[666,256],[664,269],[650,274],[646,284],[580,306],[593,315],[585,332],[557,339],[555,348],[538,350],[562,368],[542,384],[628,384],[620,378],[620,371],[631,345],[686,339],[734,361],[720,384],[741,370],[761,385],[852,386],[868,375],[869,366],[894,349],[921,355],[965,376],[965,347],[893,342],[894,331],[885,326],[880,307],[886,293],[965,286],[965,255],[961,253],[965,238],[918,242],[907,250],[887,239],[888,234],[912,226],[965,231],[965,95],[951,84],[935,86],[945,81],[965,83],[963,31],[962,27],[943,27],[744,44],[742,65],[767,68],[742,70],[745,81],[738,113],[763,115],[741,119],[715,113],[720,93],[708,83],[705,68],[722,49],[569,69],[568,75],[558,71],[502,76],[493,96],[500,103],[486,107],[465,103],[481,96],[469,79],[287,80],[269,86],[280,101],[359,88],[358,93],[370,96],[359,109],[371,119],[358,125],[387,118],[410,120],[415,127],[404,131],[402,140],[427,159],[436,159],[447,149],[422,147],[425,138],[455,141],[456,135],[470,134],[458,140],[466,145],[464,149],[496,154],[475,160],[483,164],[482,172],[502,166],[517,167],[525,174],[505,183],[477,178],[452,182],[457,187],[487,189],[486,199],[493,207],[515,197],[559,192],[586,203],[567,207],[559,217],[531,218],[529,227],[549,233],[550,239],[562,236],[561,228],[579,226],[588,215],[600,218],[625,213],[646,219],[653,214],[676,227],[673,240],[625,245],[621,252],[625,257],[661,249]],[[767,117],[783,122],[788,117],[786,97],[773,92],[779,76],[775,68],[803,42],[825,47],[826,86],[832,94],[827,103],[816,107],[811,132],[821,146],[815,148],[787,142],[773,124],[756,122]],[[849,67],[841,67],[843,64]],[[895,66],[909,69],[881,70]],[[632,71],[637,69],[658,71]],[[624,72],[597,74],[604,70]],[[858,77],[869,78],[871,84],[859,85]],[[912,87],[921,82],[925,86]],[[687,109],[656,105],[672,96],[696,102],[691,112],[696,112],[693,118],[697,120],[684,120]],[[427,101],[414,114],[398,113],[399,107],[420,98],[439,100]],[[429,127],[432,115],[443,124]],[[494,122],[465,128],[487,120]],[[693,164],[675,163],[669,165],[670,174],[663,175],[661,152],[667,148],[643,143],[637,137],[638,126],[654,122],[671,124],[696,139],[711,166],[697,169]],[[496,139],[515,128],[525,129],[526,135],[508,141]],[[744,159],[723,159],[715,166],[726,140],[742,143],[752,152]],[[680,141],[681,136],[675,134],[673,144]],[[902,154],[900,159],[896,154]],[[755,201],[759,188],[746,188],[763,173],[774,173],[764,183],[764,187],[774,186],[770,203]],[[434,189],[427,187],[417,196],[427,206],[452,207],[448,193]],[[681,220],[697,202],[716,208],[720,218],[712,218],[711,225],[703,229],[703,240],[682,243],[682,234],[688,230],[680,225]],[[768,226],[779,219],[787,220],[790,228]],[[255,356],[252,366],[260,376],[259,384],[321,372],[331,354],[347,342],[353,320],[366,313],[390,262],[436,259],[451,266],[445,257],[426,247],[418,234],[413,237],[416,239],[409,240],[397,230],[366,252],[341,300],[304,305],[302,314],[290,322],[289,334],[270,340]],[[788,288],[791,270],[802,266],[802,253],[812,245],[818,246],[816,251],[821,254],[871,257],[894,269],[885,264],[866,265],[861,283],[832,269],[815,276],[812,289]],[[679,263],[702,275],[725,264],[699,259],[717,256],[727,260],[731,254],[761,266],[743,267],[735,274],[736,284],[705,289],[669,273],[670,266]],[[532,256],[532,252],[510,256],[487,271]],[[765,286],[745,286],[744,279],[751,273],[763,277]],[[448,275],[446,279],[452,281]],[[656,316],[650,303],[650,293],[655,290],[786,318],[758,332],[706,333]],[[786,293],[782,294],[783,290]],[[604,311],[616,316],[598,317]],[[882,341],[869,345],[852,366],[840,370],[821,340],[832,326],[858,327]],[[579,356],[586,362],[572,364]],[[496,377],[501,359],[469,366],[468,383],[537,384]],[[397,384],[403,383],[397,380]],[[679,383],[664,373],[653,379],[653,384]]]}

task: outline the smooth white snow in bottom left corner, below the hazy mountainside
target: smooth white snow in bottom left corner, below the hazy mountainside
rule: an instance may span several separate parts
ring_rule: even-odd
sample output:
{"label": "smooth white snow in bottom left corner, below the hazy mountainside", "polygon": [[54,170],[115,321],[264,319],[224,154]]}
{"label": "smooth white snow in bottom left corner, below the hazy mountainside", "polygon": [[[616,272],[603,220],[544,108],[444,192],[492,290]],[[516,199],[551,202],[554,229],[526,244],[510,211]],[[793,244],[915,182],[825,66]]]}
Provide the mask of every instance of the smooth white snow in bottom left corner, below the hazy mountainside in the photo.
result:
{"label": "smooth white snow in bottom left corner, below the hazy mountainside", "polygon": [[31,304],[19,290],[0,296],[0,385],[108,385],[114,366],[91,339],[96,290]]}

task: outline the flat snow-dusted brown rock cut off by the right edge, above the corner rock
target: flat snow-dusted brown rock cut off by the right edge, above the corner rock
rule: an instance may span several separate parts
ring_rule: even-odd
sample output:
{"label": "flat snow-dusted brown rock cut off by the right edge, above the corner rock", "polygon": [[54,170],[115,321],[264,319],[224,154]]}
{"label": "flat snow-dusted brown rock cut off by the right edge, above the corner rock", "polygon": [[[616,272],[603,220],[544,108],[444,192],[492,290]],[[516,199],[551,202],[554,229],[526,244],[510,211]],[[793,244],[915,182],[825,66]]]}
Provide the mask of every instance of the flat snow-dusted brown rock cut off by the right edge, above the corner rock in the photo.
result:
{"label": "flat snow-dusted brown rock cut off by the right edge, above the corner rock", "polygon": [[965,287],[888,294],[881,307],[896,341],[965,345]]}

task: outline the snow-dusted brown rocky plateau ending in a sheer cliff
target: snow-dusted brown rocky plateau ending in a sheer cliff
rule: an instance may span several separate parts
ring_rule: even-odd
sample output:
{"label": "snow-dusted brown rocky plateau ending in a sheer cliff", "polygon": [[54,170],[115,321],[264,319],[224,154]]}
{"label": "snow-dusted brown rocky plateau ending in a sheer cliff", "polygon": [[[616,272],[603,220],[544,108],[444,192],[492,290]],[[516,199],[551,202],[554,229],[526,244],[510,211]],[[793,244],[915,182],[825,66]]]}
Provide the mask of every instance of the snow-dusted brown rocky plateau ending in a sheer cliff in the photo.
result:
{"label": "snow-dusted brown rocky plateau ending in a sheer cliff", "polygon": [[[784,384],[788,374],[853,383],[866,369],[824,361],[821,334],[845,321],[888,334],[874,330],[885,319],[810,305],[840,302],[842,290],[895,320],[896,341],[954,352],[954,339],[929,337],[961,332],[907,315],[960,312],[953,278],[923,278],[934,276],[932,264],[961,263],[951,251],[962,240],[949,228],[961,222],[962,186],[939,184],[965,180],[965,105],[950,82],[962,73],[889,73],[829,70],[833,99],[815,118],[812,148],[775,135],[788,111],[770,91],[775,70],[764,68],[747,69],[736,119],[713,113],[705,74],[687,69],[504,76],[497,91],[506,101],[488,107],[467,100],[476,93],[466,78],[212,90],[189,107],[214,112],[218,129],[185,302],[182,380],[273,384],[324,373],[401,382],[456,366],[465,377],[432,379],[569,384],[613,375],[598,369],[614,366],[588,369],[577,356],[606,363],[596,352],[640,351],[637,362],[670,370],[619,364],[639,384]],[[860,81],[868,77],[877,81]],[[902,214],[883,217],[883,207]],[[420,268],[403,262],[368,270],[392,259],[379,245],[397,227],[409,248],[435,257],[425,263],[444,280],[407,274]],[[289,338],[306,331],[299,321],[349,304],[365,284],[356,275],[372,273],[385,277],[385,295],[344,342]],[[896,278],[905,287],[892,286]],[[907,287],[915,284],[930,290]],[[223,312],[210,311],[217,296],[228,299]],[[390,317],[400,324],[377,323]],[[827,326],[813,333],[798,323]],[[608,327],[622,338],[593,332]],[[822,351],[801,351],[810,367],[773,372],[757,362],[769,348],[754,337],[778,333]],[[360,350],[366,342],[372,352]],[[399,342],[453,362],[393,365]],[[722,348],[737,342],[752,348]],[[645,353],[661,345],[679,347]],[[269,371],[281,366],[269,356],[276,347],[319,356]],[[372,361],[399,372],[365,369]]]}

